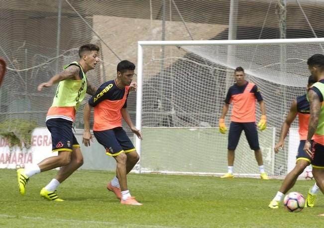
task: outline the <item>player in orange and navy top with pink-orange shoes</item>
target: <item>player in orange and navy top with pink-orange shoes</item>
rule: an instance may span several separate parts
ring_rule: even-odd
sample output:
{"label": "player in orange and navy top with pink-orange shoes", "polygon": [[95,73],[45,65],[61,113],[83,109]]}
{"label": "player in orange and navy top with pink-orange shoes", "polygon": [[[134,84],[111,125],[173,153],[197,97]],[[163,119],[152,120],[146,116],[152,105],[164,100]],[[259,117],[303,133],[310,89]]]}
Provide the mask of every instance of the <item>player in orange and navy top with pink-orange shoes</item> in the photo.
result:
{"label": "player in orange and navy top with pink-orange shoes", "polygon": [[117,78],[105,82],[96,94],[89,100],[84,111],[83,142],[90,145],[90,114],[94,108],[93,131],[96,139],[106,149],[106,154],[116,160],[116,176],[108,183],[107,188],[112,191],[121,204],[142,205],[130,195],[127,187],[126,175],[139,160],[135,147],[122,128],[121,118],[138,138],[142,138],[140,131],[133,125],[127,111],[127,97],[129,85],[134,76],[135,65],[123,60],[117,65]]}

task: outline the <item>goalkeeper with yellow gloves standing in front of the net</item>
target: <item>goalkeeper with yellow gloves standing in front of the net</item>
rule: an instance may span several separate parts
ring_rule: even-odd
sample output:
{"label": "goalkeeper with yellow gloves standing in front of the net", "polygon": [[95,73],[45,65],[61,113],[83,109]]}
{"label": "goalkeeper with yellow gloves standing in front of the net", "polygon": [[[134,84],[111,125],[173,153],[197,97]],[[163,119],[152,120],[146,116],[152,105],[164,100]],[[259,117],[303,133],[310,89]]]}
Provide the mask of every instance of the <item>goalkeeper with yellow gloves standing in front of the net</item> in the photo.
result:
{"label": "goalkeeper with yellow gloves standing in front of the net", "polygon": [[268,180],[268,175],[264,171],[262,153],[259,147],[258,132],[255,124],[255,100],[258,101],[261,110],[261,119],[258,123],[260,130],[266,128],[265,104],[258,87],[245,81],[245,73],[242,67],[237,67],[234,71],[236,83],[228,89],[225,104],[219,119],[219,131],[225,134],[225,115],[229,104],[233,103],[231,122],[228,133],[227,162],[228,171],[221,178],[233,178],[233,164],[235,149],[241,136],[242,130],[245,132],[249,146],[254,150],[256,161],[258,162],[261,179]]}

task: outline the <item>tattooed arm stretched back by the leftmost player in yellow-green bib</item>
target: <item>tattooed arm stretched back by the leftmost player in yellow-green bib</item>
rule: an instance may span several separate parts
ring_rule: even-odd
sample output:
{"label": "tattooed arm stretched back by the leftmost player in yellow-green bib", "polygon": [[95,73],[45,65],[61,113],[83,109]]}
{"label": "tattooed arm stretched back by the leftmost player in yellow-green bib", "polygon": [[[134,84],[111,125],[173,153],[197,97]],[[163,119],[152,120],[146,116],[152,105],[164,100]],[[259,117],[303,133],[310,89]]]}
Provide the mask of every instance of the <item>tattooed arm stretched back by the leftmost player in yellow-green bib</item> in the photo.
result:
{"label": "tattooed arm stretched back by the leftmost player in yellow-green bib", "polygon": [[60,81],[70,79],[70,78],[75,78],[76,76],[79,76],[79,72],[80,72],[80,68],[78,66],[71,65],[61,73],[54,75],[48,82],[43,82],[39,84],[37,90],[42,91],[44,87],[49,88],[54,84],[59,83]]}

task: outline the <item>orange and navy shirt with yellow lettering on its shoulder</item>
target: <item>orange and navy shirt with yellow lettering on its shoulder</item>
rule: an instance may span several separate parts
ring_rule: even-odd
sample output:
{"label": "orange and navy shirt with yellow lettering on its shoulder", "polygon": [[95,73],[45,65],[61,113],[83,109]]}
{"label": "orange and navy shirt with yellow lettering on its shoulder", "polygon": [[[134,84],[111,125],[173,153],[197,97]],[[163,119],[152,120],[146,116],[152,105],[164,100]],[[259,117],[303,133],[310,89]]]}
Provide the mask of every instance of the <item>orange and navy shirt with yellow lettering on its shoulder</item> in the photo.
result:
{"label": "orange and navy shirt with yellow lettering on its shoulder", "polygon": [[93,130],[101,131],[121,127],[122,108],[127,108],[129,86],[121,89],[115,80],[105,82],[89,99],[89,105],[95,107]]}

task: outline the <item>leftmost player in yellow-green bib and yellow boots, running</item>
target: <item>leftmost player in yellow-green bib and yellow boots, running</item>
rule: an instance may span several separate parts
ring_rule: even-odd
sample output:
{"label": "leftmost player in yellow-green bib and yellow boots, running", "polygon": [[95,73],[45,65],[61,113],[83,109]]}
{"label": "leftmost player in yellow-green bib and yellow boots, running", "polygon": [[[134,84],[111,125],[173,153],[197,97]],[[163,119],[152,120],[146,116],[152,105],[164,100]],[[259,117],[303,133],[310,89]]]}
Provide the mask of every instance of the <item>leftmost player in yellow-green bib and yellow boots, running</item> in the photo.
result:
{"label": "leftmost player in yellow-green bib and yellow boots, running", "polygon": [[46,115],[46,126],[52,137],[52,151],[57,151],[58,155],[45,158],[29,168],[17,170],[21,195],[25,194],[25,185],[30,177],[60,167],[55,178],[40,191],[40,196],[50,201],[63,201],[55,193],[57,187],[82,166],[83,155],[73,134],[72,124],[86,93],[94,95],[97,90],[88,82],[86,73],[95,69],[99,62],[99,50],[95,44],[82,45],[79,48],[78,62],[64,66],[61,73],[38,85],[37,89],[41,91],[58,83],[53,104]]}

